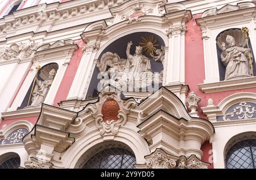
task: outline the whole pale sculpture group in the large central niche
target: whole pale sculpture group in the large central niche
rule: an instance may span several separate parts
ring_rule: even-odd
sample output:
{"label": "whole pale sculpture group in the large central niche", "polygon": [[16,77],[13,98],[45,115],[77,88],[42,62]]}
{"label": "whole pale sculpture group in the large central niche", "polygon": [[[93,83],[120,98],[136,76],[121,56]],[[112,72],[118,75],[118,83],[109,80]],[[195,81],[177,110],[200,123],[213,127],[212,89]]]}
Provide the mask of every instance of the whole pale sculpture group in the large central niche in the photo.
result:
{"label": "whole pale sculpture group in the large central niche", "polygon": [[[162,83],[161,76],[152,72],[150,59],[143,56],[142,47],[136,47],[135,54],[131,55],[131,45],[133,45],[131,41],[127,43],[127,60],[120,58],[117,53],[106,52],[102,55],[97,65],[104,77],[98,87],[99,91],[109,84],[126,91],[143,89],[151,86],[152,83]],[[156,55],[156,61],[163,60],[163,53]]]}

